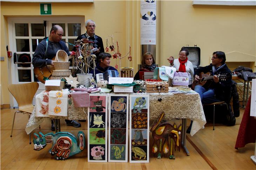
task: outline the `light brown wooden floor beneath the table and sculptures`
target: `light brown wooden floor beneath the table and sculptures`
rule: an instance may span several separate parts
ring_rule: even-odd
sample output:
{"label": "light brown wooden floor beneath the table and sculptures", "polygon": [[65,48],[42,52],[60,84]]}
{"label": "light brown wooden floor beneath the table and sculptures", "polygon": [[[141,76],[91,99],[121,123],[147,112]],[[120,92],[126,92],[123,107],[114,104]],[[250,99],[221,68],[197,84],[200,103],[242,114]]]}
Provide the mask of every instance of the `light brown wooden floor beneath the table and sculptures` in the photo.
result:
{"label": "light brown wooden floor beneath the table and sculptures", "polygon": [[[13,137],[10,137],[12,121],[15,109],[1,109],[1,169],[256,169],[256,165],[250,160],[254,155],[255,143],[247,144],[244,148],[236,150],[235,142],[243,116],[240,109],[240,117],[236,119],[236,125],[232,127],[209,124],[198,131],[193,137],[188,135],[187,148],[190,156],[183,149],[175,151],[175,160],[168,158],[156,159],[150,153],[149,163],[88,163],[87,148],[65,161],[56,161],[46,146],[41,151],[33,150],[33,142],[29,144],[29,138],[24,128],[28,121],[28,115],[16,114]],[[181,120],[175,120],[178,123]],[[189,125],[188,121],[188,125]],[[81,128],[66,126],[61,120],[61,130],[73,133],[75,136],[79,130],[83,130],[87,136],[87,123],[81,122]],[[50,121],[44,121],[41,130],[37,128],[33,133],[50,131]],[[151,136],[151,135],[150,135]],[[33,135],[32,135],[33,137]],[[152,143],[152,139],[150,139]],[[192,144],[191,144],[192,143]],[[198,151],[195,149],[197,148]],[[151,150],[151,148],[150,148]],[[201,155],[199,153],[201,152]],[[208,162],[206,161],[208,160]],[[212,165],[212,168],[210,165]]]}

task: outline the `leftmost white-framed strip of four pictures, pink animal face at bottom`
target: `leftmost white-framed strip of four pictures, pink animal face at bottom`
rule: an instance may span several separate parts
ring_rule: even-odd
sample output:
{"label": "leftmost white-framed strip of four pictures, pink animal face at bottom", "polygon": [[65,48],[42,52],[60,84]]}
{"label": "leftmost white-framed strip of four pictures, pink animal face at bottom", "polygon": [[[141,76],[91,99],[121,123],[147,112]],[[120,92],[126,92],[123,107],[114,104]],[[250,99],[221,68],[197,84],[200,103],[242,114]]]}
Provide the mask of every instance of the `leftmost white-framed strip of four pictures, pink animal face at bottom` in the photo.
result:
{"label": "leftmost white-framed strip of four pictures, pink animal face at bottom", "polygon": [[107,162],[107,94],[90,94],[88,162]]}

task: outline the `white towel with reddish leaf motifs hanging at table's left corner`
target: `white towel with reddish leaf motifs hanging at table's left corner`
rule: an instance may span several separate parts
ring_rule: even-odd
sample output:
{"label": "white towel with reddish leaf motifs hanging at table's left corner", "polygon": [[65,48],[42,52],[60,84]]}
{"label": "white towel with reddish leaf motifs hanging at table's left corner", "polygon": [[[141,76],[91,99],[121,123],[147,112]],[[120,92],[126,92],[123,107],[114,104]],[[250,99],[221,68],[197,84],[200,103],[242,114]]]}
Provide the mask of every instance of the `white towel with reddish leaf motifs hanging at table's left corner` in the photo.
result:
{"label": "white towel with reddish leaf motifs hanging at table's left corner", "polygon": [[43,91],[35,96],[35,116],[48,117],[49,91]]}

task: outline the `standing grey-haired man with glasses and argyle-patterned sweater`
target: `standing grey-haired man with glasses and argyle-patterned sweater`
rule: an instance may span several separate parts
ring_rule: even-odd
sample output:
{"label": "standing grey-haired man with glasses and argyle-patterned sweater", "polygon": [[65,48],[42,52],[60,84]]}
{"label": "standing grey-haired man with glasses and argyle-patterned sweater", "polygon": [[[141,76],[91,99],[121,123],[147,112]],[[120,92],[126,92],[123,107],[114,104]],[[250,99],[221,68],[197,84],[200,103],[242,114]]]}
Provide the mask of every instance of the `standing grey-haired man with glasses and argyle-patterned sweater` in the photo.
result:
{"label": "standing grey-haired man with glasses and argyle-patterned sweater", "polygon": [[93,41],[94,42],[92,43],[93,47],[98,48],[98,50],[95,51],[94,54],[98,57],[101,52],[104,52],[104,47],[103,47],[102,38],[100,36],[95,35],[94,33],[95,27],[96,27],[96,24],[93,20],[87,20],[85,22],[86,33],[78,36],[76,38],[76,41],[78,40],[83,40],[84,42],[86,42],[86,40]]}

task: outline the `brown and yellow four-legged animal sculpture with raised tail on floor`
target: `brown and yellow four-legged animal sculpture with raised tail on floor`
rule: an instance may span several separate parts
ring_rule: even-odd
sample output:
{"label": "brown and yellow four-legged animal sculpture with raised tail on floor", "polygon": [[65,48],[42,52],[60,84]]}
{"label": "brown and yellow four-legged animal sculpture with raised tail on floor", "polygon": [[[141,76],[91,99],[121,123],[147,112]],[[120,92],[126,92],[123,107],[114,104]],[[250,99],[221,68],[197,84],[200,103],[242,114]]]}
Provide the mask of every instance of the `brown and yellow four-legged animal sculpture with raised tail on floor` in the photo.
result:
{"label": "brown and yellow four-legged animal sculpture with raised tail on floor", "polygon": [[[173,155],[173,142],[175,143],[175,150],[177,149],[180,151],[180,145],[181,145],[181,125],[172,126],[170,123],[162,123],[159,125],[159,122],[163,118],[164,113],[160,116],[158,122],[150,129],[150,132],[153,136],[153,147],[152,152],[153,154],[157,154],[157,158],[161,159],[162,155],[168,155],[169,151],[169,159],[175,159]],[[169,144],[169,138],[170,138],[170,144]],[[157,141],[159,141],[159,146],[157,147]],[[169,150],[170,145],[170,150]]]}

